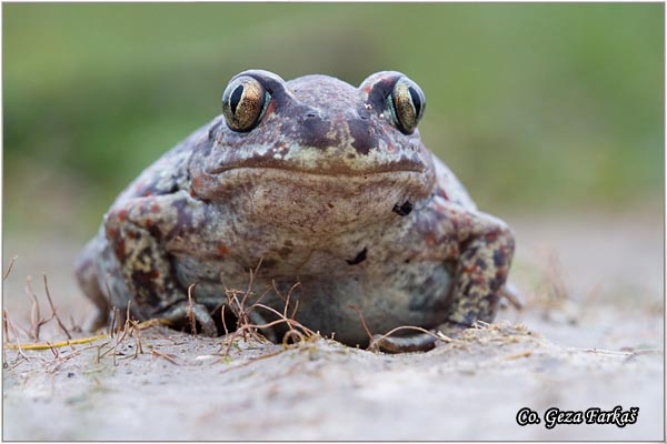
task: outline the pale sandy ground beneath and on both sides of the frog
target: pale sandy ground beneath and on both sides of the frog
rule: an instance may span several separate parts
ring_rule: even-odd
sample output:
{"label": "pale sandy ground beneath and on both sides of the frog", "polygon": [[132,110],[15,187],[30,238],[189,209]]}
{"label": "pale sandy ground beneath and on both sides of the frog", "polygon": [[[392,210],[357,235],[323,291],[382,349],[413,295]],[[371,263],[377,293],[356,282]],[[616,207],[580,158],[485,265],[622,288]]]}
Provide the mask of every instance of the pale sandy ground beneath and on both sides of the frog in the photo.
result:
{"label": "pale sandy ground beneath and on both sides of the frog", "polygon": [[[237,340],[225,356],[226,339],[162,326],[58,356],[6,349],[3,438],[664,440],[661,212],[506,219],[526,309],[494,325],[404,355],[313,339]],[[90,305],[69,265],[78,246],[4,238],[6,266],[19,255],[3,283],[13,324],[30,326],[27,275],[49,314],[42,272],[64,324],[82,323]],[[62,333],[51,322],[43,339]],[[637,422],[545,427],[550,407],[617,405],[639,407]],[[521,407],[540,424],[519,426]]]}

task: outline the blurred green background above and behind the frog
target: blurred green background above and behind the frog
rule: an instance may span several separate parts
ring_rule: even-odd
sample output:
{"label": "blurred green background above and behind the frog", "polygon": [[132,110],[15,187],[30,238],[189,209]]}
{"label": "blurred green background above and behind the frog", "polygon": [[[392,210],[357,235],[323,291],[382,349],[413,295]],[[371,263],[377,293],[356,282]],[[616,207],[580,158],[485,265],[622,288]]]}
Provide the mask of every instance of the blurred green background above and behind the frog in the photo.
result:
{"label": "blurred green background above and behind the frog", "polygon": [[4,3],[4,234],[83,239],[239,71],[402,71],[477,203],[663,205],[660,3]]}

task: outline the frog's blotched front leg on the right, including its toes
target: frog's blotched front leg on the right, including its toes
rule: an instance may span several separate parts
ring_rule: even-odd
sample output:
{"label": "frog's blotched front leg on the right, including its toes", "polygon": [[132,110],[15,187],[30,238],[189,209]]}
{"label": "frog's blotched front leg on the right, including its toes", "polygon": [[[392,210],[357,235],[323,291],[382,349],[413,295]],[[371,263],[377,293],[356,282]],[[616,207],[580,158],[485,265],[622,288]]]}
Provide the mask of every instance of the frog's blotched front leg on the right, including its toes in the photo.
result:
{"label": "frog's blotched front leg on the right, including its toes", "polygon": [[[424,259],[456,264],[451,289],[442,296],[448,315],[434,333],[455,336],[476,321],[491,322],[500,295],[516,292],[505,287],[515,246],[509,226],[439,196],[415,220],[425,243],[420,248]],[[389,353],[428,351],[437,342],[427,333],[375,340],[379,350]]]}

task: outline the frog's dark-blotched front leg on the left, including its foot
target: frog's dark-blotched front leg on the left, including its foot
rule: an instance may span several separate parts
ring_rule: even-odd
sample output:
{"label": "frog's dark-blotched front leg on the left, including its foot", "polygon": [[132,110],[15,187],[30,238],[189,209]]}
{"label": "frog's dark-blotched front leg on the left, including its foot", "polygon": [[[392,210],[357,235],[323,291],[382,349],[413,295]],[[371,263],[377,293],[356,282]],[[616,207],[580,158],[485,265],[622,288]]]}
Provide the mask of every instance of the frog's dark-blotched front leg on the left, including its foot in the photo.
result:
{"label": "frog's dark-blotched front leg on the left, including its foot", "polygon": [[130,199],[107,213],[104,233],[139,316],[189,325],[192,313],[202,333],[215,336],[216,323],[206,306],[190,304],[165,246],[185,243],[203,211],[203,204],[185,192]]}

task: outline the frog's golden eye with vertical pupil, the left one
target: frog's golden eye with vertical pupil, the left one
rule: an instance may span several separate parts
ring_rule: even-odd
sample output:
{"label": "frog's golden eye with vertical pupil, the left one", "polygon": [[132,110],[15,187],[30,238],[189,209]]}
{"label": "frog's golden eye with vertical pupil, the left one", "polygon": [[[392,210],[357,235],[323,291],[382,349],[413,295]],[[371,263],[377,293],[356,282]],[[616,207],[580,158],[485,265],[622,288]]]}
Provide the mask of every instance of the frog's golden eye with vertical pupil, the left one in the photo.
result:
{"label": "frog's golden eye with vertical pupil, the left one", "polygon": [[232,131],[246,132],[260,121],[269,94],[262,84],[250,75],[233,79],[222,93],[222,114]]}

